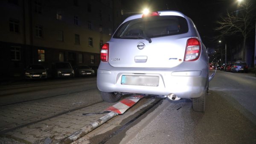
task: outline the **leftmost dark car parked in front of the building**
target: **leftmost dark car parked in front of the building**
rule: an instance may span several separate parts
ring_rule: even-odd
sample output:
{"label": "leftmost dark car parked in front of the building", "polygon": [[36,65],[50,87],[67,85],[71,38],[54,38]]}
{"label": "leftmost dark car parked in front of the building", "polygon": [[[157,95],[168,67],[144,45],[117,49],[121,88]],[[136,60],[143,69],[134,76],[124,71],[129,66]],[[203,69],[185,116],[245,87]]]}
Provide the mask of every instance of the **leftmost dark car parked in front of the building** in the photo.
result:
{"label": "leftmost dark car parked in front of the building", "polygon": [[28,65],[25,70],[26,79],[46,79],[47,78],[47,69],[40,64],[31,64]]}

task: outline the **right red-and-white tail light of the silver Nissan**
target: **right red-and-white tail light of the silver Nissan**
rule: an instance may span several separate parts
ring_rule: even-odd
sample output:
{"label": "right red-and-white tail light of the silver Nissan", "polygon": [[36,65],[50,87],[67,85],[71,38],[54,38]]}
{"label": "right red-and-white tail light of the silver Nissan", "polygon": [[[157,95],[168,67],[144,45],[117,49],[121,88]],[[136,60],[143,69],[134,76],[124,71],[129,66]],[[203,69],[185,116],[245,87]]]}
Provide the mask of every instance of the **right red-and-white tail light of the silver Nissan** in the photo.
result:
{"label": "right red-and-white tail light of the silver Nissan", "polygon": [[201,52],[201,43],[196,38],[189,38],[186,44],[184,61],[197,60]]}

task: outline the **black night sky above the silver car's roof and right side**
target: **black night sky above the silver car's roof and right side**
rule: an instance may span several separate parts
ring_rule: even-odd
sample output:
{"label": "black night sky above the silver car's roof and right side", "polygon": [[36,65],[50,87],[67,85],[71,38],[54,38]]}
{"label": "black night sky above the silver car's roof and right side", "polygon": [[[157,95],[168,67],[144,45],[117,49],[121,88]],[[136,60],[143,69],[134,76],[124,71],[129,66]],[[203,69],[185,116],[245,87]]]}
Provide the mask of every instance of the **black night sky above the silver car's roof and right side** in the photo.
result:
{"label": "black night sky above the silver car's roof and right side", "polygon": [[[133,12],[141,12],[144,8],[152,11],[173,10],[190,17],[207,47],[214,47],[218,35],[214,28],[220,16],[227,11],[239,9],[237,0],[123,0],[124,13],[128,16]],[[135,13],[134,13],[135,14]]]}

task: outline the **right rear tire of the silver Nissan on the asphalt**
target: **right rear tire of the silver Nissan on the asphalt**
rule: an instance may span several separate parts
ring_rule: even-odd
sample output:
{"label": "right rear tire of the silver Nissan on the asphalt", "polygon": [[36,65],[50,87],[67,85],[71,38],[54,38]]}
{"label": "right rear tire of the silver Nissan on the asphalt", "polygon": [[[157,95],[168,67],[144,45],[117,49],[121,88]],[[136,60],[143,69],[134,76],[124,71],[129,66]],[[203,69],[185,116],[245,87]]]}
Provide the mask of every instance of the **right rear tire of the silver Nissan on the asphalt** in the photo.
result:
{"label": "right rear tire of the silver Nissan on the asphalt", "polygon": [[195,112],[204,112],[205,111],[205,100],[206,100],[207,91],[203,93],[199,98],[192,99],[192,107]]}

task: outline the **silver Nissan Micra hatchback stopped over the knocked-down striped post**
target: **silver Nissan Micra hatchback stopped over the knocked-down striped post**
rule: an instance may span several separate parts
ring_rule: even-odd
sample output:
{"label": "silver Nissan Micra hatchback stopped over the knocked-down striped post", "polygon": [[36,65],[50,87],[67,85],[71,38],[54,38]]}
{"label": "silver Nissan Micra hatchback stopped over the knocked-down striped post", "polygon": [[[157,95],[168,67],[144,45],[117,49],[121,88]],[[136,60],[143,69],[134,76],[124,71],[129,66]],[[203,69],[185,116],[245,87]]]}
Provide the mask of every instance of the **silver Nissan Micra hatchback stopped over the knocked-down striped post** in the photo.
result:
{"label": "silver Nissan Micra hatchback stopped over the knocked-down striped post", "polygon": [[160,11],[122,22],[102,46],[97,86],[107,102],[127,93],[189,98],[195,111],[204,112],[213,76],[192,20],[180,12]]}

